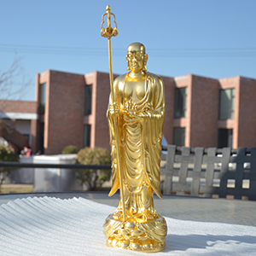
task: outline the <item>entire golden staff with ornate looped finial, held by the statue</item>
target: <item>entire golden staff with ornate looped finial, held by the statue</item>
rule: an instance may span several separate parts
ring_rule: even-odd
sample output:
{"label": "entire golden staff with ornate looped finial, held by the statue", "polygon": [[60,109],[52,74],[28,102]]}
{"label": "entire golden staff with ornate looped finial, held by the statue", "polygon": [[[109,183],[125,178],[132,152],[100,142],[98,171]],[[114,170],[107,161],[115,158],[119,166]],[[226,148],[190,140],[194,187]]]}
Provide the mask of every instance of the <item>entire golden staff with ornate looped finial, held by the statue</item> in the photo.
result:
{"label": "entire golden staff with ornate looped finial, held by the statue", "polygon": [[[111,8],[109,5],[106,7],[107,12],[102,15],[102,37],[108,38],[108,65],[109,65],[109,80],[110,80],[110,90],[111,90],[111,101],[114,105],[114,112],[113,112],[113,126],[114,126],[114,133],[115,133],[115,146],[116,146],[116,153],[117,153],[117,167],[119,170],[119,185],[120,185],[120,198],[122,201],[122,210],[123,210],[123,221],[125,222],[125,198],[124,198],[124,187],[123,187],[123,175],[121,171],[121,164],[120,164],[120,150],[119,150],[119,130],[117,126],[117,116],[115,113],[115,106],[116,103],[114,99],[113,93],[113,71],[112,71],[112,52],[111,52],[111,38],[116,37],[118,35],[117,31],[117,24],[115,22],[115,15],[110,12]],[[103,27],[104,23],[104,16],[107,15],[108,26],[105,28]],[[114,27],[111,27],[111,15],[113,15],[113,22],[115,24]]]}

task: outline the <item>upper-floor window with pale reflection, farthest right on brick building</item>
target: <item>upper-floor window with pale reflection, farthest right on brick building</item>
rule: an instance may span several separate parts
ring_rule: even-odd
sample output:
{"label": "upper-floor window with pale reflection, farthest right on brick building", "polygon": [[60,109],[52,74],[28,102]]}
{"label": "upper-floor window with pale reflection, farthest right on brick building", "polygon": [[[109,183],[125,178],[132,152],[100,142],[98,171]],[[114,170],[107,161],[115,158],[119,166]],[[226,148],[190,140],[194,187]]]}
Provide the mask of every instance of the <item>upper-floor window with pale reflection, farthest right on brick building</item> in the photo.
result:
{"label": "upper-floor window with pale reflection, farthest right on brick building", "polygon": [[219,90],[219,113],[221,120],[234,119],[235,89]]}

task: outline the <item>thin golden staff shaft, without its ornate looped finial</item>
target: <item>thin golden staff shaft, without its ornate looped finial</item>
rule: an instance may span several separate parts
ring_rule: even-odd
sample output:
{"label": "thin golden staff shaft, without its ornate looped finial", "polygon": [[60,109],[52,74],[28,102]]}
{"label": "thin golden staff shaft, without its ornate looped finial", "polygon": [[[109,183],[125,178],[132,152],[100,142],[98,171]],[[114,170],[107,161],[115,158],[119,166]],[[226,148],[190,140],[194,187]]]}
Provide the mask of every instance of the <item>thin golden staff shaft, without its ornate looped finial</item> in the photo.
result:
{"label": "thin golden staff shaft, without its ornate looped finial", "polygon": [[[109,65],[109,82],[110,82],[110,90],[111,90],[111,100],[112,100],[112,103],[115,104],[117,102],[116,102],[116,99],[114,98],[114,93],[113,93],[111,38],[108,38],[108,65]],[[115,133],[117,165],[119,170],[118,172],[119,172],[120,199],[122,201],[122,208],[123,208],[123,221],[125,222],[125,197],[124,197],[123,173],[121,171],[121,164],[120,164],[121,158],[120,158],[120,149],[119,149],[119,127],[117,125],[117,116],[115,111],[113,112],[113,126],[114,126],[114,133]]]}

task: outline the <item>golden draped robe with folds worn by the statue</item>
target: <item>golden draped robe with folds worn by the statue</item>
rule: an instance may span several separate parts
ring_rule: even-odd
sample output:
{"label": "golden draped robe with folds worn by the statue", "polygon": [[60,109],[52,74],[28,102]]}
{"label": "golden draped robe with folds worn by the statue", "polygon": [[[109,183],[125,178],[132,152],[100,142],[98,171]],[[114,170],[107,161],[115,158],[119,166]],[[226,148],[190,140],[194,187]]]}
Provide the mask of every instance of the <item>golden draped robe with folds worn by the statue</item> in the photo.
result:
{"label": "golden draped robe with folds worn by the statue", "polygon": [[[114,80],[113,101],[118,111],[118,134],[113,127],[113,102],[109,102],[108,123],[112,155],[113,186],[109,195],[119,189],[120,161],[124,185],[133,194],[142,192],[143,187],[151,187],[155,194],[160,192],[160,151],[162,130],[165,119],[165,98],[162,80],[153,73],[147,73],[145,96],[139,102],[125,102],[126,74]],[[130,116],[127,110],[133,109]],[[116,154],[116,140],[119,139],[119,155]]]}

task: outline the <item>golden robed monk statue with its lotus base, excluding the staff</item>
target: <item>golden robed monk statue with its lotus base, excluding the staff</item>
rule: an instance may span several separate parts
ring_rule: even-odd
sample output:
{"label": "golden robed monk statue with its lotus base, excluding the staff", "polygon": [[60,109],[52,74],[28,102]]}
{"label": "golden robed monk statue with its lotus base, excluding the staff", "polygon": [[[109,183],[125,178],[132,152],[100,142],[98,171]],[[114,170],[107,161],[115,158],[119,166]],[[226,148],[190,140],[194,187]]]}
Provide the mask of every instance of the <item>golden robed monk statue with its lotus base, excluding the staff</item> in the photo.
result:
{"label": "golden robed monk statue with its lotus base, excluding the staff", "polygon": [[114,80],[107,113],[113,172],[109,195],[120,186],[123,195],[106,219],[104,232],[110,247],[157,252],[164,249],[167,232],[165,219],[154,208],[154,193],[161,197],[164,88],[160,77],[147,72],[143,44],[130,44],[126,61],[128,73]]}

